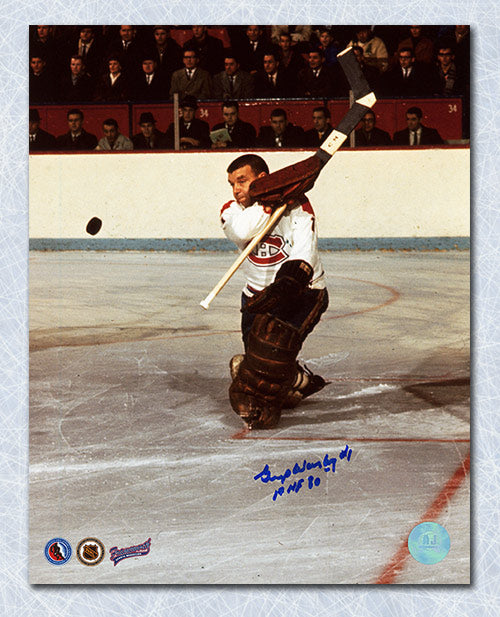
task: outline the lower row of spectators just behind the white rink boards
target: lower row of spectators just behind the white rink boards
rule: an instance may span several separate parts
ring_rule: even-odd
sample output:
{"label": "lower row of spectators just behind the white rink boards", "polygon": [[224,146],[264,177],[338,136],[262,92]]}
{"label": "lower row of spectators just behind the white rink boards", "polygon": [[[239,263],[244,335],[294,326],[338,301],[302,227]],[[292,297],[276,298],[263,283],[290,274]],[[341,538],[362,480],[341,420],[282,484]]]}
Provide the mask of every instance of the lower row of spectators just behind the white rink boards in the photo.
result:
{"label": "lower row of spectators just behind the white rink boards", "polygon": [[[327,107],[318,106],[312,110],[313,127],[304,130],[289,121],[286,110],[277,107],[270,113],[269,124],[260,127],[258,133],[252,124],[239,117],[238,101],[224,101],[221,105],[222,122],[210,130],[207,122],[196,117],[196,98],[186,95],[180,105],[179,142],[182,150],[210,148],[311,148],[315,149],[332,132],[330,112]],[[102,137],[84,129],[84,113],[72,108],[67,112],[67,132],[55,137],[40,128],[38,109],[31,108],[29,115],[30,152],[34,151],[81,151],[81,150],[173,150],[175,128],[172,122],[165,133],[156,127],[151,112],[143,112],[139,119],[140,133],[131,138],[124,135],[114,118],[102,123]],[[368,110],[361,121],[361,128],[355,131],[355,145],[358,147],[380,147],[391,145],[438,145],[443,144],[435,128],[422,124],[423,112],[420,107],[410,107],[405,112],[407,129],[389,133],[375,126],[376,115]],[[346,145],[346,144],[345,144]]]}

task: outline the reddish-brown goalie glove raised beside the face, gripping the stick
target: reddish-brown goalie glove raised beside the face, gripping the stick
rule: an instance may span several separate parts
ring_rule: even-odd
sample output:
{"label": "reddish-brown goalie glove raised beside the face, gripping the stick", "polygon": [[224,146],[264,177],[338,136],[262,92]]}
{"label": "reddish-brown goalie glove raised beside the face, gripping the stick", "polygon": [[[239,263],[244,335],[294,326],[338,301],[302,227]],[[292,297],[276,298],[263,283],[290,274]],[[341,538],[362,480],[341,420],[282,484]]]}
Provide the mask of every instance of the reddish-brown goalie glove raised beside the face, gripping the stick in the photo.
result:
{"label": "reddish-brown goalie glove raised beside the face, gripping the stick", "polygon": [[276,208],[310,191],[323,165],[324,162],[318,156],[310,156],[304,161],[257,178],[250,185],[249,195],[254,202]]}

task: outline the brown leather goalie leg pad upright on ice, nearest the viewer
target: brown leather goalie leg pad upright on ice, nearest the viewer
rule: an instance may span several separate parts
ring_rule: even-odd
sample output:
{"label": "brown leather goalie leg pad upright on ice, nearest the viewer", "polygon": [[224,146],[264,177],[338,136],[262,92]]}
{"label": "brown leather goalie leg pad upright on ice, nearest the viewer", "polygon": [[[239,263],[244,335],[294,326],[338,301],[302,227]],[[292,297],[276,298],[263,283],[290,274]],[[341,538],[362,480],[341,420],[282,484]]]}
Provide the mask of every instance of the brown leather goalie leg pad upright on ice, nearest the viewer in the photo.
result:
{"label": "brown leather goalie leg pad upright on ice, nearest the viewer", "polygon": [[229,388],[233,410],[250,429],[274,428],[296,378],[299,331],[269,314],[257,315],[245,358]]}

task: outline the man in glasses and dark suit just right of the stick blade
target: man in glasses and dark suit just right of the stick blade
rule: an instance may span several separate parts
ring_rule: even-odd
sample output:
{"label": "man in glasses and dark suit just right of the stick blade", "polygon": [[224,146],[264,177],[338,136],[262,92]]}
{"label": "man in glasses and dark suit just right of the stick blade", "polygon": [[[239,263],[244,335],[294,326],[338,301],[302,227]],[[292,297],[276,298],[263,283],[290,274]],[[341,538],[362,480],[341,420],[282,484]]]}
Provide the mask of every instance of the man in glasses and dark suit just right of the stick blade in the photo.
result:
{"label": "man in glasses and dark suit just right of the stick blade", "polygon": [[411,47],[401,47],[398,64],[381,78],[381,93],[386,97],[428,96],[432,94],[429,68],[415,61]]}

